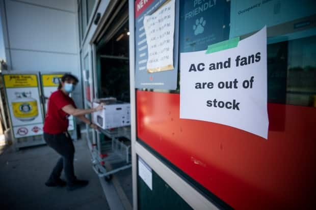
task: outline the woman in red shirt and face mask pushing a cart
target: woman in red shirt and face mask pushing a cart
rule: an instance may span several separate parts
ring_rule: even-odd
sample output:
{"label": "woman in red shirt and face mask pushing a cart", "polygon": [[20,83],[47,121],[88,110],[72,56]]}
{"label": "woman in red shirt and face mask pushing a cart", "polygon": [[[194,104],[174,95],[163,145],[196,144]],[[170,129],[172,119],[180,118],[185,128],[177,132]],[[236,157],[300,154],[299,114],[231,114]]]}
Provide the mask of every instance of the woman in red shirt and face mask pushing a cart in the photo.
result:
{"label": "woman in red shirt and face mask pushing a cart", "polygon": [[86,124],[89,124],[91,128],[97,129],[97,126],[90,122],[90,120],[85,117],[85,114],[101,110],[103,107],[103,105],[100,104],[93,109],[78,109],[73,100],[69,97],[69,94],[73,91],[77,82],[78,79],[71,74],[65,74],[61,78],[58,90],[49,97],[43,128],[44,139],[47,145],[62,156],[52,170],[45,185],[48,187],[65,186],[66,183],[60,178],[64,168],[67,190],[70,191],[88,185],[88,181],[78,180],[74,175],[74,146],[67,132],[69,125],[68,117],[73,115]]}

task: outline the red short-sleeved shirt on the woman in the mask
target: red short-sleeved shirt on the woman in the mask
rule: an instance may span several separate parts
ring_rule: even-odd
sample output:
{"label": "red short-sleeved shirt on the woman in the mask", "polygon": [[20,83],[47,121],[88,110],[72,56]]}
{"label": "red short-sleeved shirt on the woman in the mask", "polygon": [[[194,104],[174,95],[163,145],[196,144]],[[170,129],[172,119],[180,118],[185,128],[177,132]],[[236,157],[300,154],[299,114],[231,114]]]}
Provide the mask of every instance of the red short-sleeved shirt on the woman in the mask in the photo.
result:
{"label": "red short-sleeved shirt on the woman in the mask", "polygon": [[67,131],[69,114],[64,112],[62,108],[69,104],[77,108],[73,100],[60,89],[50,95],[43,128],[45,133],[59,134]]}

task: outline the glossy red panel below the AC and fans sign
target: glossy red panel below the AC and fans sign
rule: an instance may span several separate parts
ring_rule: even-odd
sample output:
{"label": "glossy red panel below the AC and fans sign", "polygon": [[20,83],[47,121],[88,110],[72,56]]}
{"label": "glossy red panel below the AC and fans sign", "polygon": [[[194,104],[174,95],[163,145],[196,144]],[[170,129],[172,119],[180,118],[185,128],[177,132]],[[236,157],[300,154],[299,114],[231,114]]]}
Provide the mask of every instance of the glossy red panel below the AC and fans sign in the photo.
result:
{"label": "glossy red panel below the AC and fans sign", "polygon": [[235,209],[314,206],[316,109],[268,104],[268,140],[180,119],[179,95],[137,92],[138,137]]}

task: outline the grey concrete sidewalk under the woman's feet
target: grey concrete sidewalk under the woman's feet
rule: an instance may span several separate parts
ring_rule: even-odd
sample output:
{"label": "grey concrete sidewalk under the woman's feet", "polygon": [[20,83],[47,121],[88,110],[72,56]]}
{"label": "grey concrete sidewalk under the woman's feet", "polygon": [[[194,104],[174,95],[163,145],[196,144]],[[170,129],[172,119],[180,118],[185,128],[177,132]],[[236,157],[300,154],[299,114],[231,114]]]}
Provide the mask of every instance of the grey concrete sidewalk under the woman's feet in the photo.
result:
{"label": "grey concrete sidewalk under the woman's feet", "polygon": [[[59,155],[43,145],[21,149],[6,148],[0,155],[0,209],[110,209],[100,180],[91,167],[86,140],[75,144],[75,174],[89,185],[68,192],[66,188],[44,185]],[[64,178],[64,174],[62,174]]]}

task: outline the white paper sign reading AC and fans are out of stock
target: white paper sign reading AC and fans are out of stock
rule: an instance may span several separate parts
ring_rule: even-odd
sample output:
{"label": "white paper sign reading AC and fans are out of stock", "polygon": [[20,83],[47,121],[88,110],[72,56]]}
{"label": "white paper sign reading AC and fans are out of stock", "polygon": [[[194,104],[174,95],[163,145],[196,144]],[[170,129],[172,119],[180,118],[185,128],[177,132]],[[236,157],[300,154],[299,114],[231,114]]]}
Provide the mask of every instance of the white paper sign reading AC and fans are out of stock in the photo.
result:
{"label": "white paper sign reading AC and fans are out of stock", "polygon": [[266,27],[235,48],[205,52],[181,53],[180,118],[268,139]]}

